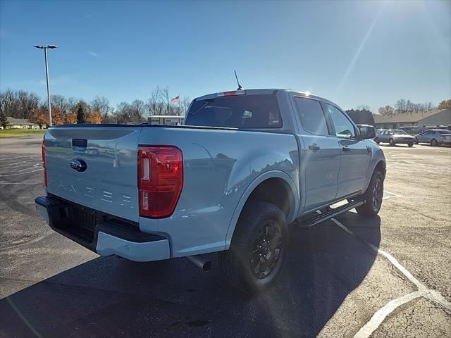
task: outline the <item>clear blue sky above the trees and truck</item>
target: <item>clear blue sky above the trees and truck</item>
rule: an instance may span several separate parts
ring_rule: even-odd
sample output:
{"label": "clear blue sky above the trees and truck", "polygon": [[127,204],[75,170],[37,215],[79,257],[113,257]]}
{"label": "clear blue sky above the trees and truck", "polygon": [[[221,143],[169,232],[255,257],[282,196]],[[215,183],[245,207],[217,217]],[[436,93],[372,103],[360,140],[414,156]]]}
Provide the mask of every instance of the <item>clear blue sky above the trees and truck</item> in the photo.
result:
{"label": "clear blue sky above the trees and truck", "polygon": [[113,105],[156,87],[309,91],[344,109],[451,97],[451,1],[0,0],[0,90]]}

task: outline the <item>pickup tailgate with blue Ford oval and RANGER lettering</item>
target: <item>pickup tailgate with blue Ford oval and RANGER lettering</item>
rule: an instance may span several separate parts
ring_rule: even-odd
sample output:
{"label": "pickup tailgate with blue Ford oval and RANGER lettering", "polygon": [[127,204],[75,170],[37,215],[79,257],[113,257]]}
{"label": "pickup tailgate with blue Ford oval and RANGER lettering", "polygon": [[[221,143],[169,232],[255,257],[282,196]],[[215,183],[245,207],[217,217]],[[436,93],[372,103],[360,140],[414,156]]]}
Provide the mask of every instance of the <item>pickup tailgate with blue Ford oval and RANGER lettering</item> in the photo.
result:
{"label": "pickup tailgate with blue Ford oval and RANGER lettering", "polygon": [[44,137],[47,192],[137,222],[141,129],[136,125],[49,129]]}

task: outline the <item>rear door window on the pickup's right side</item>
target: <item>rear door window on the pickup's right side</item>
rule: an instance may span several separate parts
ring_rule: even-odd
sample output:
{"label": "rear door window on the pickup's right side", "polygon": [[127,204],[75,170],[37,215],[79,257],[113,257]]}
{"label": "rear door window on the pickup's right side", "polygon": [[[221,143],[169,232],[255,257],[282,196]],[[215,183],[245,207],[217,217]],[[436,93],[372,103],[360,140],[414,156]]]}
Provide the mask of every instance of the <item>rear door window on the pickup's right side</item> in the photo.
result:
{"label": "rear door window on the pickup's right side", "polygon": [[295,96],[297,112],[301,118],[302,127],[315,135],[328,135],[326,116],[319,101]]}

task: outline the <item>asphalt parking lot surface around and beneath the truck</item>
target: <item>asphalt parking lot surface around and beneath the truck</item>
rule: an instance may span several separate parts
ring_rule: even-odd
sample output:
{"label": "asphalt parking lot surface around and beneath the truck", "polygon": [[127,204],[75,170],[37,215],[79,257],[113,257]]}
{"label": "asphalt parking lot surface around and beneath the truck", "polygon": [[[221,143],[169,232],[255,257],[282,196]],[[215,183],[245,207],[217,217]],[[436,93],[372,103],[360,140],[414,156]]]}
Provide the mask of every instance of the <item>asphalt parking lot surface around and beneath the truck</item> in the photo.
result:
{"label": "asphalt parking lot surface around and beneath the truck", "polygon": [[0,337],[451,337],[451,148],[382,146],[379,218],[292,227],[276,287],[133,263],[49,230],[40,138],[0,139]]}

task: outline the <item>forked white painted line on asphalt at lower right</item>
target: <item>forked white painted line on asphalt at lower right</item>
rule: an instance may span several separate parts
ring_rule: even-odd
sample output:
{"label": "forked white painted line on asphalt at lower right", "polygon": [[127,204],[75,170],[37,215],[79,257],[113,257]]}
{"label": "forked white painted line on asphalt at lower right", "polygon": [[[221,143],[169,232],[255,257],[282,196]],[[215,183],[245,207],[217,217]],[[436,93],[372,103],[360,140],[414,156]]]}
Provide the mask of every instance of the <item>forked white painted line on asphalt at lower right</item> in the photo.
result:
{"label": "forked white painted line on asphalt at lower right", "polygon": [[451,311],[451,303],[447,301],[438,291],[428,289],[426,285],[421,283],[419,280],[417,280],[412,273],[410,273],[404,266],[401,265],[400,262],[397,261],[395,257],[390,255],[387,251],[384,251],[381,248],[378,248],[374,246],[373,244],[366,242],[362,237],[357,236],[349,230],[345,225],[343,225],[339,220],[336,220],[335,218],[331,218],[330,220],[335,223],[335,225],[338,225],[340,229],[347,232],[348,234],[351,234],[353,237],[356,237],[360,241],[362,241],[366,246],[369,246],[373,251],[380,254],[381,256],[384,256],[390,263],[392,263],[397,270],[402,273],[410,282],[415,284],[415,286],[418,288],[416,292],[412,292],[411,294],[407,294],[404,296],[401,296],[400,298],[394,299],[392,301],[389,301],[383,308],[379,309],[374,313],[373,317],[369,320],[368,323],[366,323],[358,332],[354,335],[354,338],[367,338],[371,335],[371,333],[378,328],[379,325],[383,322],[383,320],[390,315],[393,311],[395,311],[396,308],[401,306],[404,303],[408,303],[409,301],[412,301],[412,299],[416,299],[419,297],[424,297],[425,299],[428,299],[429,301],[433,301],[435,303],[439,303],[444,308],[447,308],[447,310]]}

